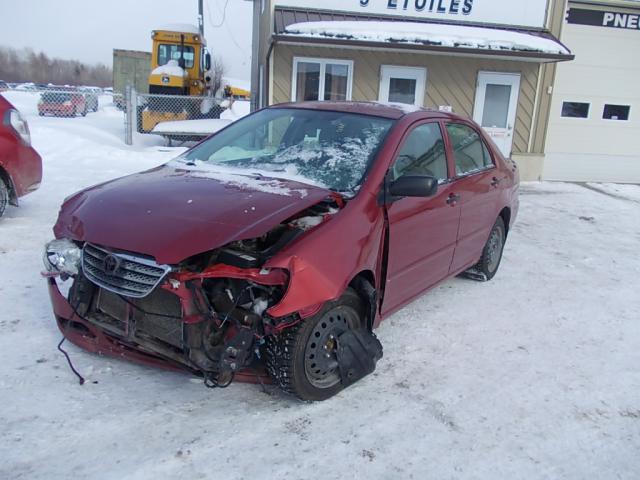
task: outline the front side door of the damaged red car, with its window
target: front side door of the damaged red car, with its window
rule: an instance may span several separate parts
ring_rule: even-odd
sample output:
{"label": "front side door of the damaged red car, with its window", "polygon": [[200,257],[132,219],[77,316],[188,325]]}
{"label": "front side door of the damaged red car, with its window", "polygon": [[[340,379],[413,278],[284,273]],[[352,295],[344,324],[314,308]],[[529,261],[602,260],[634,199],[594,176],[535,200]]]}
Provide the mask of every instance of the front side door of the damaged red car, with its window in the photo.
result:
{"label": "front side door of the damaged red car, with its window", "polygon": [[383,315],[407,303],[449,273],[460,207],[450,200],[447,155],[442,126],[422,123],[405,135],[388,173],[394,181],[403,175],[429,175],[440,181],[435,196],[405,197],[387,206],[389,250]]}

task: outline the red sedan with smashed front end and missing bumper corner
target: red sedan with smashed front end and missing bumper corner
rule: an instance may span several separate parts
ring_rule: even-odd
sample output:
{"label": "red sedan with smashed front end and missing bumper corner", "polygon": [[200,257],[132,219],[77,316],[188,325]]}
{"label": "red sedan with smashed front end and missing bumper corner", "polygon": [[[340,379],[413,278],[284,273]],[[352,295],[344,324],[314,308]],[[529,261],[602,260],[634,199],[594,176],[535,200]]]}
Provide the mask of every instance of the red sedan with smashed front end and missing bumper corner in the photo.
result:
{"label": "red sedan with smashed front end and missing bumper corner", "polygon": [[69,197],[45,250],[55,317],[92,352],[326,399],[375,369],[382,319],[495,275],[517,190],[516,165],[450,113],[266,108]]}

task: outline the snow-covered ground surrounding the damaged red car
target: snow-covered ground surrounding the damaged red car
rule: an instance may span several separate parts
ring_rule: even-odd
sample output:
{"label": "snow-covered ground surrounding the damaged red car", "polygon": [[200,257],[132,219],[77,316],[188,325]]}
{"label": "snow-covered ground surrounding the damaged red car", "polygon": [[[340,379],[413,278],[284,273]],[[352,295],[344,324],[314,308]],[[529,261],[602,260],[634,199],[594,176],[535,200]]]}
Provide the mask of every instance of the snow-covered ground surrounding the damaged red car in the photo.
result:
{"label": "snow-covered ground surrounding the damaged red car", "polygon": [[39,276],[58,207],[182,150],[125,147],[109,107],[39,118],[29,95],[6,94],[45,178],[0,220],[0,478],[638,478],[640,188],[523,185],[497,277],[387,320],[376,373],[329,401],[69,346],[79,386]]}

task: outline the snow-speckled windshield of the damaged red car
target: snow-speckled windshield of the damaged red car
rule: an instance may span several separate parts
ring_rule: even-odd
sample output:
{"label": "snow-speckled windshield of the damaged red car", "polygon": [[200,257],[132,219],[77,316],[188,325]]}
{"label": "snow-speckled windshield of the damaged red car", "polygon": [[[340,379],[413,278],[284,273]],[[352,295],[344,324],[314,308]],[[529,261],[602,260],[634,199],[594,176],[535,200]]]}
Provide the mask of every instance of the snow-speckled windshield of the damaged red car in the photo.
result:
{"label": "snow-speckled windshield of the damaged red car", "polygon": [[239,120],[180,160],[256,171],[343,193],[358,190],[393,120],[273,108]]}

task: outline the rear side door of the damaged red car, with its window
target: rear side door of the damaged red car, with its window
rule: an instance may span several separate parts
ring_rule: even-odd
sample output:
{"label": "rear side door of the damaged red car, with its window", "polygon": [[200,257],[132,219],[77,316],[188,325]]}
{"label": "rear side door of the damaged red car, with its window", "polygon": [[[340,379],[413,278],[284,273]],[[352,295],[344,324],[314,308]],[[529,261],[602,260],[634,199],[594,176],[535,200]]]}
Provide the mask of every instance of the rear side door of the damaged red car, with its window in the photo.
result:
{"label": "rear side door of the damaged red car, with its window", "polygon": [[451,273],[476,263],[498,216],[498,169],[479,132],[464,123],[447,123],[455,165],[452,186],[460,204],[460,228]]}

